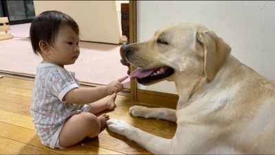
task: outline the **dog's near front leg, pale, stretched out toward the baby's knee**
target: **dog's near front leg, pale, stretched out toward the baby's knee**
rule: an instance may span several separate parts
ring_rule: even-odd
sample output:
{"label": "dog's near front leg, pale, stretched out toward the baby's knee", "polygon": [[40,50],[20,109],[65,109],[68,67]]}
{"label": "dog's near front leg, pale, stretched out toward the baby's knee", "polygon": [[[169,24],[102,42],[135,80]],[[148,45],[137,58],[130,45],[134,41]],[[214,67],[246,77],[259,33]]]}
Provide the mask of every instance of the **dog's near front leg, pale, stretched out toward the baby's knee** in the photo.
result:
{"label": "dog's near front leg, pale, stretched out toward the baby's knee", "polygon": [[[120,119],[109,119],[107,126],[111,132],[126,136],[153,154],[171,154],[171,139],[164,139],[135,128]],[[175,146],[174,146],[175,147]],[[177,149],[176,149],[177,150]]]}

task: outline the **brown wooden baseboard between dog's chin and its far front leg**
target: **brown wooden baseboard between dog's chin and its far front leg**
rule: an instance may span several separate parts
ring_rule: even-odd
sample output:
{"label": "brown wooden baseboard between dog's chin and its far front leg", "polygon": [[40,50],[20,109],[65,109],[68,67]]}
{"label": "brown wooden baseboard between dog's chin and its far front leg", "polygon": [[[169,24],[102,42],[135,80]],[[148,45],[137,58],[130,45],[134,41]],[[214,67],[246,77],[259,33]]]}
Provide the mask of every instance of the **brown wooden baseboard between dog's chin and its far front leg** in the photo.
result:
{"label": "brown wooden baseboard between dog's chin and its far front leg", "polygon": [[137,89],[137,102],[166,108],[177,107],[178,95]]}

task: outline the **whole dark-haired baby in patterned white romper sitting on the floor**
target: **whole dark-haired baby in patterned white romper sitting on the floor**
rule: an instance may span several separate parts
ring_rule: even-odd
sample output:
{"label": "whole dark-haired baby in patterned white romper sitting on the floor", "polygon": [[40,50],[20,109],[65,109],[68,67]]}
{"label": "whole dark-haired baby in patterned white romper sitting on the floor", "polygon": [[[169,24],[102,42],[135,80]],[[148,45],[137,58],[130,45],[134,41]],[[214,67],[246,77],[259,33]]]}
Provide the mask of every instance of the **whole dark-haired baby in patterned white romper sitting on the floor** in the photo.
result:
{"label": "whole dark-haired baby in patterned white romper sitting on the floor", "polygon": [[80,87],[75,73],[64,68],[80,54],[79,28],[63,12],[46,11],[34,17],[30,40],[34,53],[43,58],[36,70],[30,110],[41,143],[62,149],[98,136],[109,115],[96,114],[115,109],[116,94],[128,76],[106,86]]}

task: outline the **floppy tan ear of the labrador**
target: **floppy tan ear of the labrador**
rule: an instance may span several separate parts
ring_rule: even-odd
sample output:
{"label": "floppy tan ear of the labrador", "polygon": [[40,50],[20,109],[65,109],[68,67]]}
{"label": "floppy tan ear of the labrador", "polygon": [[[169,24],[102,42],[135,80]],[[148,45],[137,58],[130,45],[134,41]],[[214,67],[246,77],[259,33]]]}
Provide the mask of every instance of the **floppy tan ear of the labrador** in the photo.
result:
{"label": "floppy tan ear of the labrador", "polygon": [[203,45],[204,73],[208,80],[213,80],[228,58],[231,47],[211,30],[198,32],[197,40]]}

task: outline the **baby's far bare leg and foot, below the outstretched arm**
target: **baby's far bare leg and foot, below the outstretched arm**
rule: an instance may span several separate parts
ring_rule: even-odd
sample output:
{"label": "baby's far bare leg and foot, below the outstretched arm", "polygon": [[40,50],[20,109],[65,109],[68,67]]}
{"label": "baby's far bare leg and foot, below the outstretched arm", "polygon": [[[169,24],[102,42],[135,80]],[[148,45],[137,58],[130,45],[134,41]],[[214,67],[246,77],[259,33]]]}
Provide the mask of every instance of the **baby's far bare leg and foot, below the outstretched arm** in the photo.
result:
{"label": "baby's far bare leg and foot, below the outstretched arm", "polygon": [[90,106],[90,112],[96,115],[104,110],[115,109],[115,98],[116,94],[113,93],[113,95],[111,95],[109,99],[99,100],[97,102],[88,104]]}

